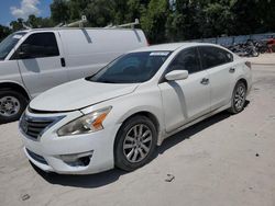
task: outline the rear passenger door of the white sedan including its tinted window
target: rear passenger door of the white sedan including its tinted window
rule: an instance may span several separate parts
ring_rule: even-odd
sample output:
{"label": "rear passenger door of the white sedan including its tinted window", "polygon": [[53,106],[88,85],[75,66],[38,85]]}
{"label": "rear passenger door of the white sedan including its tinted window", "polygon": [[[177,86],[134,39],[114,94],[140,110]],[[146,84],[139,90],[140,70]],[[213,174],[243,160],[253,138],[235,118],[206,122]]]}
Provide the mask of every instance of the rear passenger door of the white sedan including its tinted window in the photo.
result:
{"label": "rear passenger door of the white sedan including its tinted window", "polygon": [[227,105],[231,100],[235,67],[233,56],[215,46],[200,46],[202,68],[209,73],[211,87],[211,111]]}

